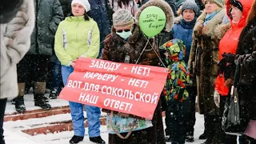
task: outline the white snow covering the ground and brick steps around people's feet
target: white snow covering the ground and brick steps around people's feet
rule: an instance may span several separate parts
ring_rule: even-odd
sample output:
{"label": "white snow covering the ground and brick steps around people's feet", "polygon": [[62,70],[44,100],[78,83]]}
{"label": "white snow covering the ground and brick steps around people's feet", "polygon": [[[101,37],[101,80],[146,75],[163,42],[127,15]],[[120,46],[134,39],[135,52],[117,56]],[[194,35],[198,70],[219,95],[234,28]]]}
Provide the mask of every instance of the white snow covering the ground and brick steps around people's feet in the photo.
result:
{"label": "white snow covering the ground and brick steps around people's feet", "polygon": [[[34,106],[33,96],[32,94],[25,96],[26,102],[26,109],[27,110],[36,110],[38,107]],[[56,99],[50,100],[50,104],[52,106],[67,106],[68,102]],[[14,105],[10,105],[8,102],[6,106],[6,114],[11,114],[15,112]],[[86,115],[86,114],[85,114]],[[103,114],[102,114],[103,115]],[[197,121],[196,125],[194,126],[194,139],[195,141],[193,144],[202,143],[203,141],[198,140],[200,134],[202,134],[204,129],[204,120],[203,115],[196,114]],[[46,118],[31,118],[22,121],[15,121],[15,122],[5,122],[4,129],[5,129],[5,139],[6,144],[69,144],[70,138],[73,136],[73,131],[64,131],[55,134],[38,134],[36,136],[30,136],[28,134],[22,133],[21,130],[26,130],[27,128],[35,128],[37,126],[44,126],[47,125],[47,122],[59,122],[59,121],[66,121],[70,120],[70,114],[58,114],[54,116],[49,116]],[[106,126],[101,127],[101,135],[102,138],[108,142],[108,134],[106,132]],[[88,138],[87,129],[86,129],[86,136],[81,142],[81,144],[92,144]],[[170,143],[168,143],[170,144]]]}

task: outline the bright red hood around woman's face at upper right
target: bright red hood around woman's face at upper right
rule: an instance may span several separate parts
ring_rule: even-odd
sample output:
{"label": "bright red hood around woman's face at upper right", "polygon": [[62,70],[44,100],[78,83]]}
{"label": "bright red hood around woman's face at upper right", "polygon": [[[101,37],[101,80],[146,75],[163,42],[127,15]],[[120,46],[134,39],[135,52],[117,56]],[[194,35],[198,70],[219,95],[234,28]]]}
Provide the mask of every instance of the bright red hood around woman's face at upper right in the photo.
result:
{"label": "bright red hood around woman's face at upper right", "polygon": [[254,0],[237,0],[237,1],[241,2],[241,4],[242,4],[242,18],[240,19],[238,24],[234,24],[234,22],[232,22],[232,18],[230,16],[230,0],[227,0],[227,2],[226,2],[226,14],[230,18],[230,23],[234,30],[246,26],[246,18],[248,16],[248,14],[250,13],[250,8],[251,8]]}

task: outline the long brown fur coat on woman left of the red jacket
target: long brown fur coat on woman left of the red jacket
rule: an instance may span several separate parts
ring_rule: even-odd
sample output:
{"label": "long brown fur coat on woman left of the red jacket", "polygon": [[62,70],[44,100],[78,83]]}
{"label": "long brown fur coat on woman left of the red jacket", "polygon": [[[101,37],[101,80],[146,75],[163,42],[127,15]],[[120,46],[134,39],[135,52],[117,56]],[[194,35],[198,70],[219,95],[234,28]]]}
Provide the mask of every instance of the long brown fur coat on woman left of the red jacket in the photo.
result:
{"label": "long brown fur coat on woman left of the red jacket", "polygon": [[[226,10],[220,10],[203,26],[206,13],[202,13],[193,32],[188,70],[198,87],[198,109],[200,114],[216,115],[218,107],[214,104],[214,83],[218,75],[218,43],[214,30],[222,23]],[[196,81],[195,79],[196,78]]]}

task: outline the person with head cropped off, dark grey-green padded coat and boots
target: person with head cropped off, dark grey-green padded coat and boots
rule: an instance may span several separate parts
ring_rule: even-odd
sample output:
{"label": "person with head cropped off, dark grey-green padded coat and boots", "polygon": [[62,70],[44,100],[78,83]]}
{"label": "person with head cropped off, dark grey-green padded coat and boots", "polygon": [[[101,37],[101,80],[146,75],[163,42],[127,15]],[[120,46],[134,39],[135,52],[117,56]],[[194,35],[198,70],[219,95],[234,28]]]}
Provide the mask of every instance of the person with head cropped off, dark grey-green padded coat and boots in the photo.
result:
{"label": "person with head cropped off, dark grey-green padded coat and boots", "polygon": [[34,0],[36,22],[31,35],[29,52],[18,63],[18,97],[15,98],[15,109],[22,113],[26,111],[24,91],[27,80],[34,82],[34,106],[50,109],[51,106],[44,97],[48,62],[54,54],[54,35],[58,23],[63,19],[62,6],[58,0]]}

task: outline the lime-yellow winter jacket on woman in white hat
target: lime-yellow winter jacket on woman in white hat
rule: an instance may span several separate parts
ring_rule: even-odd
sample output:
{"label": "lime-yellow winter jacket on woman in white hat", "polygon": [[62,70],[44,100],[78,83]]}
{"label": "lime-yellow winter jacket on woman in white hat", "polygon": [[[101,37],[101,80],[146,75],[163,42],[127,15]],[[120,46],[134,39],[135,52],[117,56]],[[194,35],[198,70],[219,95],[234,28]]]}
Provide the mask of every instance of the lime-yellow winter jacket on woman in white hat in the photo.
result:
{"label": "lime-yellow winter jacket on woman in white hat", "polygon": [[97,58],[99,38],[98,25],[93,19],[67,17],[55,35],[55,54],[64,66],[70,66],[71,61],[79,57]]}

